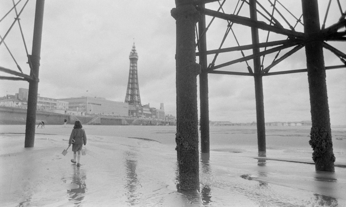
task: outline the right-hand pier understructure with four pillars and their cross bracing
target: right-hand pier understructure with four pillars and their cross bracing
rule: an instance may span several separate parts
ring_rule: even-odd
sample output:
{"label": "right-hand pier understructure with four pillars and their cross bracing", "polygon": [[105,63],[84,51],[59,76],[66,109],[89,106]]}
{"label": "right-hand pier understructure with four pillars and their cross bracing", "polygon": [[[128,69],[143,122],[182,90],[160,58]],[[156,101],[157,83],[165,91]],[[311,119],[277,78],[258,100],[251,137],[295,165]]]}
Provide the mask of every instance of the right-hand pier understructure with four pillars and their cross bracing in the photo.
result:
{"label": "right-hand pier understructure with four pillars and their cross bracing", "polygon": [[[318,3],[327,3],[320,7],[326,9],[322,26]],[[345,53],[338,49],[339,42],[346,41],[346,11],[342,3],[339,0],[175,0],[176,8],[171,10],[171,15],[176,20],[176,149],[181,189],[198,189],[199,186],[198,75],[201,152],[209,152],[210,73],[254,78],[258,153],[265,156],[262,78],[307,72],[312,126],[309,144],[314,150],[313,161],[316,170],[334,171],[326,70],[345,68],[346,64]],[[328,19],[331,7],[336,8],[337,19]],[[221,24],[225,25],[223,30]],[[282,67],[285,61],[294,62],[294,58],[289,58],[299,54],[302,48],[305,54],[299,57],[306,56],[307,68]],[[326,62],[325,66],[324,52],[334,54],[340,64]],[[275,67],[280,63],[281,67]]]}

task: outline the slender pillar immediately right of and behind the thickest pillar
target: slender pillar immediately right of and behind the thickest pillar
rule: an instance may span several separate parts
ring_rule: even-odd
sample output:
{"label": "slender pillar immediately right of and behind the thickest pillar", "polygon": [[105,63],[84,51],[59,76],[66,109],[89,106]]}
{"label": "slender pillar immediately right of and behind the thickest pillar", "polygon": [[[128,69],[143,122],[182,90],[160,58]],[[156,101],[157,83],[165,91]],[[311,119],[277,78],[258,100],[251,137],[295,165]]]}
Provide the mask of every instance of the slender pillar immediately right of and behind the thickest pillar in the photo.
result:
{"label": "slender pillar immediately right of and behind the thickest pillar", "polygon": [[[204,4],[200,7],[204,8]],[[199,64],[202,72],[199,75],[199,97],[200,97],[200,127],[201,127],[201,152],[209,152],[209,98],[208,98],[208,63],[207,63],[207,34],[206,16],[203,14],[198,22],[199,30]]]}

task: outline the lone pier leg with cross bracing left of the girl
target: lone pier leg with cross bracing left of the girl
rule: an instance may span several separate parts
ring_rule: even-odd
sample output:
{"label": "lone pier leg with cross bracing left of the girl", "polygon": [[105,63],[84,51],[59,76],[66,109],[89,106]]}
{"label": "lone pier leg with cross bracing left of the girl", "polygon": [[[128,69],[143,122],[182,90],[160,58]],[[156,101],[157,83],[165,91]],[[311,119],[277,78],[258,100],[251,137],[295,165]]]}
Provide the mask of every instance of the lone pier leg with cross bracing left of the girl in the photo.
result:
{"label": "lone pier leg with cross bracing left of the girl", "polygon": [[[18,71],[5,68],[3,66],[0,66],[0,72],[4,72],[13,76],[0,76],[0,79],[2,80],[24,80],[29,82],[29,91],[28,91],[28,108],[27,108],[27,114],[26,114],[26,128],[25,128],[25,144],[24,147],[34,147],[34,141],[35,141],[35,125],[36,125],[36,110],[37,110],[37,91],[38,91],[38,82],[39,82],[39,66],[40,66],[40,53],[41,53],[41,39],[42,39],[42,26],[43,26],[43,14],[44,14],[44,0],[37,0],[36,1],[36,7],[35,7],[35,20],[34,20],[34,31],[33,31],[33,44],[32,44],[32,50],[31,55],[29,55],[27,45],[24,38],[24,32],[21,27],[20,23],[20,15],[24,11],[24,8],[27,6],[29,0],[22,1],[18,0],[15,2],[15,0],[12,0],[13,6],[10,6],[9,11],[4,14],[4,16],[0,20],[1,30],[0,32],[4,32],[4,34],[0,34],[0,49],[2,51],[2,45],[4,45],[9,52],[9,55],[13,59],[13,62],[17,66]],[[10,1],[1,2],[3,3],[2,6],[5,4],[9,4]],[[18,12],[18,10],[20,11]],[[11,16],[12,15],[12,16]],[[11,22],[7,17],[15,17],[15,20]],[[24,59],[22,55],[13,54],[10,50],[11,44],[6,43],[6,38],[8,37],[8,34],[13,29],[13,26],[18,23],[21,38],[24,44],[24,49],[26,52],[26,57],[28,60],[28,66],[29,66],[29,75],[25,74],[23,72],[23,69],[21,66],[19,66],[18,59]],[[9,27],[7,29],[6,25],[8,24]],[[6,28],[7,30],[3,30]],[[19,40],[18,40],[19,41]],[[16,52],[19,52],[17,49]],[[20,53],[20,52],[19,52]],[[16,57],[16,58],[15,58]],[[22,61],[20,61],[22,62]]]}

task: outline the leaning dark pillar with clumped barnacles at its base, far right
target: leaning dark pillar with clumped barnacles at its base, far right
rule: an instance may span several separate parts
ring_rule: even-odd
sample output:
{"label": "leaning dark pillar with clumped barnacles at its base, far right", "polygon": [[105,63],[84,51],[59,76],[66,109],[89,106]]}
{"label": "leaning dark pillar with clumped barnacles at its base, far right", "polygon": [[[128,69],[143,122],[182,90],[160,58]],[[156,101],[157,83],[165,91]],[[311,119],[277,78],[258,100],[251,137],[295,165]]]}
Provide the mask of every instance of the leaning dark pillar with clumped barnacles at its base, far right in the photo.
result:
{"label": "leaning dark pillar with clumped barnacles at its base, far right", "polygon": [[317,0],[302,0],[305,53],[310,92],[312,127],[309,144],[316,170],[334,171],[335,156],[329,119],[323,37],[320,32]]}

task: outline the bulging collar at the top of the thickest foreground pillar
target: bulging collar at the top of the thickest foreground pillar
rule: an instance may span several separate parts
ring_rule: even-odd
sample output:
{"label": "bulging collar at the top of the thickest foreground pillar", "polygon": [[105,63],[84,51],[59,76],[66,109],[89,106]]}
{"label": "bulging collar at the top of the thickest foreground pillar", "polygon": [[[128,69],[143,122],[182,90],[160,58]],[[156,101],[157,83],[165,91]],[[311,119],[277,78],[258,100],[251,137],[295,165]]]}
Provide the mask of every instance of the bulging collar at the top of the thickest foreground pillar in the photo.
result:
{"label": "bulging collar at the top of the thickest foreground pillar", "polygon": [[201,18],[201,14],[192,4],[180,4],[177,8],[171,10],[171,16],[176,21],[191,21],[191,23],[197,23]]}

